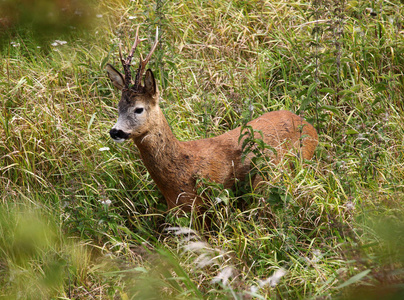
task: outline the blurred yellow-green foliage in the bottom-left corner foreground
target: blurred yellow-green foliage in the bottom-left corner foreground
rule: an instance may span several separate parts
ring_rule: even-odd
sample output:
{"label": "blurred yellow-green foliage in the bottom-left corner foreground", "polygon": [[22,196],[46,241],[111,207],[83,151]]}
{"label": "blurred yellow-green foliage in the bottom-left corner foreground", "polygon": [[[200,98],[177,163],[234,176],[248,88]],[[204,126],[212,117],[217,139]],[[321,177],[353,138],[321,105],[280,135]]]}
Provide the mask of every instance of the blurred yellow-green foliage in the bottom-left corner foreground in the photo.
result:
{"label": "blurred yellow-green foliage in the bottom-left corner foreground", "polygon": [[65,296],[69,280],[89,268],[84,244],[63,237],[59,222],[31,204],[1,204],[0,297]]}

